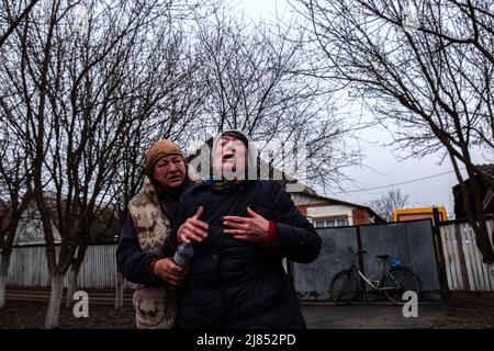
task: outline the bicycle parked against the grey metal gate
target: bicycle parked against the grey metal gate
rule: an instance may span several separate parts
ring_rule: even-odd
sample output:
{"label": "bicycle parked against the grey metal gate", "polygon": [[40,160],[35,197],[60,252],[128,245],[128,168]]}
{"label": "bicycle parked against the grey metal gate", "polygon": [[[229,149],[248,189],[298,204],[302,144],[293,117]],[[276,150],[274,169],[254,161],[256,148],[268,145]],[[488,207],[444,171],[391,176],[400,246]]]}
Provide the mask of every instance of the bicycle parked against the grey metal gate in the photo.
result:
{"label": "bicycle parked against the grey metal gate", "polygon": [[[360,286],[357,276],[361,276],[372,291],[383,293],[384,296],[395,305],[403,306],[407,301],[403,299],[403,293],[413,291],[417,294],[420,292],[420,281],[418,276],[407,267],[403,265],[400,260],[390,260],[389,254],[379,254],[380,259],[379,276],[374,281],[370,281],[356,265],[356,258],[359,253],[368,253],[367,251],[356,251],[352,247],[348,250],[353,254],[351,264],[348,269],[338,272],[329,284],[329,295],[338,305],[349,305]],[[364,288],[366,286],[363,286]]]}

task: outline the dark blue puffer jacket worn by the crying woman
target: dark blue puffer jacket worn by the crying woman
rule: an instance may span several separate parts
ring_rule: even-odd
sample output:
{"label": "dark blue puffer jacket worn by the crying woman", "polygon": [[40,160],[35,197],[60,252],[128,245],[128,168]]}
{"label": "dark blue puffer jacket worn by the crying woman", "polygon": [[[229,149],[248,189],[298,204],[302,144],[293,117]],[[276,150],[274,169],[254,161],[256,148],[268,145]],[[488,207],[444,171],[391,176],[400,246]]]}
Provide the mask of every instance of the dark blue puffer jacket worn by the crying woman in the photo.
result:
{"label": "dark blue puffer jacket worn by the crying woman", "polygon": [[[190,280],[178,316],[179,328],[305,328],[282,258],[308,263],[321,238],[277,181],[248,181],[229,190],[202,183],[180,200],[176,228],[204,206],[209,236],[194,244]],[[223,216],[248,217],[247,206],[278,226],[279,246],[261,247],[223,234]],[[165,248],[172,250],[173,235]],[[171,254],[171,252],[168,252]]]}

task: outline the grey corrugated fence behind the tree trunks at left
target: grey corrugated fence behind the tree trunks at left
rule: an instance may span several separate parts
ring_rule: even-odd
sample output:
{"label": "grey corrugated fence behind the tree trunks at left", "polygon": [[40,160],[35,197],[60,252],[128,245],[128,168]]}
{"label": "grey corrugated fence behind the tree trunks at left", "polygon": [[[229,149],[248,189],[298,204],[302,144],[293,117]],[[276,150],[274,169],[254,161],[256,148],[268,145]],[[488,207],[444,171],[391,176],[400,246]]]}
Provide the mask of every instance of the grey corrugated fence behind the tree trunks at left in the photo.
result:
{"label": "grey corrugated fence behind the tree trunks at left", "polygon": [[[79,288],[115,288],[116,244],[89,246],[79,272]],[[56,247],[58,256],[59,247]],[[67,286],[68,274],[64,280]],[[8,285],[12,286],[49,286],[46,250],[44,246],[16,247],[12,251],[9,267]],[[125,287],[132,288],[132,283],[125,282]]]}

